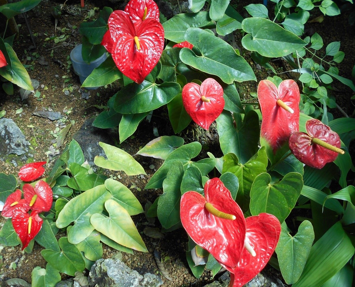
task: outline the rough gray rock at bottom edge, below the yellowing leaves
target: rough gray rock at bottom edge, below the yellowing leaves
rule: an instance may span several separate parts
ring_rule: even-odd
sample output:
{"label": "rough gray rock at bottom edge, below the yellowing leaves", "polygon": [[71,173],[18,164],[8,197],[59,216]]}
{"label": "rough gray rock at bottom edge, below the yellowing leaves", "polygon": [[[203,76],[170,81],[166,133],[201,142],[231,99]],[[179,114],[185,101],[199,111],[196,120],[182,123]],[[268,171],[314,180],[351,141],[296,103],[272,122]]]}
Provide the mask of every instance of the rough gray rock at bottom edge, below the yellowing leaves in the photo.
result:
{"label": "rough gray rock at bottom edge, below the yellowing leaves", "polygon": [[119,259],[99,259],[91,267],[89,277],[90,287],[158,287],[163,281],[151,273],[140,275],[126,266]]}

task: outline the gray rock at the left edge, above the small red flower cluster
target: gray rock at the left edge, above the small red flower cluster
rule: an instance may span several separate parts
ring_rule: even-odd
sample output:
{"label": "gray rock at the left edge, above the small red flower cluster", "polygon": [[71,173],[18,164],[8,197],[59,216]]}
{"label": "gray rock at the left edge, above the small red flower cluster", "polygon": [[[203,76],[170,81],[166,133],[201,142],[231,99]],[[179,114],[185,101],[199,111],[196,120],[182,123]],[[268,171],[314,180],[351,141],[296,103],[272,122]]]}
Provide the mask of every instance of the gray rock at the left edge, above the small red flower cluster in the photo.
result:
{"label": "gray rock at the left edge, above the small red flower cluster", "polygon": [[[26,161],[33,157],[29,151],[30,143],[26,141],[21,130],[12,119],[0,119],[0,159],[10,161],[17,166],[17,161]],[[13,155],[20,157],[14,158]],[[11,158],[11,159],[10,159]]]}

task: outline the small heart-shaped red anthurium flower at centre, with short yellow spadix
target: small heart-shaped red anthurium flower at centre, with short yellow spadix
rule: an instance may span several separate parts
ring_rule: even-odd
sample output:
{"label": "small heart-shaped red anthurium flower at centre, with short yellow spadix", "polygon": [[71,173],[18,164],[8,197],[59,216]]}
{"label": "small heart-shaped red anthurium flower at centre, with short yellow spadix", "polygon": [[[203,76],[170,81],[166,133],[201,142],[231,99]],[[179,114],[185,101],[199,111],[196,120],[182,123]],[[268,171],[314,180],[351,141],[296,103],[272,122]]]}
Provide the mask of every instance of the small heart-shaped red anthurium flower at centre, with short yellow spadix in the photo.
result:
{"label": "small heart-shaped red anthurium flower at centre, with short yellow spadix", "polygon": [[200,85],[188,83],[182,88],[182,103],[193,121],[208,130],[224,108],[223,88],[208,78]]}

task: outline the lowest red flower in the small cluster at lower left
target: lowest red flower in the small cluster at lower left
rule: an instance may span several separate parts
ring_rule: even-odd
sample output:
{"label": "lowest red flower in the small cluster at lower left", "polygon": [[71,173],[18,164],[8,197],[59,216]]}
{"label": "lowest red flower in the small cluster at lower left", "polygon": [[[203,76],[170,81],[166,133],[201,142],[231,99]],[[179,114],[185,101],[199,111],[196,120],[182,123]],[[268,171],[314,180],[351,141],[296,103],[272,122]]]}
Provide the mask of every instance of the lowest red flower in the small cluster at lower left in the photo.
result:
{"label": "lowest red flower in the small cluster at lower left", "polygon": [[37,235],[42,227],[43,220],[38,215],[38,210],[32,210],[29,215],[21,207],[13,210],[12,225],[22,242],[21,250],[25,249],[28,243]]}

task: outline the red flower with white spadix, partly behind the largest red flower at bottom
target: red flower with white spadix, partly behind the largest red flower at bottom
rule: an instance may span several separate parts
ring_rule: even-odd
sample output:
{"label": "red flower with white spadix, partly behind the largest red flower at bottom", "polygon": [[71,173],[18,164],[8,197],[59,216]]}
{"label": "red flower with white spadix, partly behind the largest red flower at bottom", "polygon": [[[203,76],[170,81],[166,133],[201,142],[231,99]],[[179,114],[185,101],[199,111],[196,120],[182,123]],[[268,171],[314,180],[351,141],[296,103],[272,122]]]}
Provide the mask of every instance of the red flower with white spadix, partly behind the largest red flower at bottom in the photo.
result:
{"label": "red flower with white spadix, partly behind the largest red flower at bottom", "polygon": [[258,216],[246,218],[245,221],[246,248],[238,265],[234,269],[224,265],[231,272],[230,287],[244,286],[254,278],[270,260],[280,237],[281,225],[274,215],[260,213]]}

